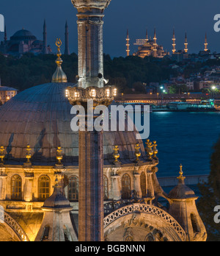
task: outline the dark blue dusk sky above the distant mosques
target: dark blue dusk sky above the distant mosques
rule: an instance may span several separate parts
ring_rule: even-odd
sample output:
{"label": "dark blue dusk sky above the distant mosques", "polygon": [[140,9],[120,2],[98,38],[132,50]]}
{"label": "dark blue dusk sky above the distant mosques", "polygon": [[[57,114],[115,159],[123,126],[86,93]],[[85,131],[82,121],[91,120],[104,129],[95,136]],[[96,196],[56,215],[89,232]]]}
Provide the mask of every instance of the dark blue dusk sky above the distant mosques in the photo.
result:
{"label": "dark blue dusk sky above the distant mosques", "polygon": [[[0,1],[0,13],[5,17],[8,38],[23,27],[42,39],[45,18],[48,44],[55,50],[56,38],[64,40],[67,20],[70,51],[77,52],[76,10],[70,0]],[[158,43],[167,51],[172,49],[172,29],[175,27],[177,49],[183,49],[187,32],[189,52],[198,53],[204,48],[207,32],[209,49],[220,52],[220,32],[213,30],[216,22],[213,17],[218,13],[219,0],[112,0],[104,18],[104,52],[111,57],[125,56],[126,30],[129,29],[133,53],[136,50],[136,46],[133,46],[135,39],[144,38],[146,29],[153,37],[154,27]],[[3,33],[0,33],[0,40],[3,37]]]}

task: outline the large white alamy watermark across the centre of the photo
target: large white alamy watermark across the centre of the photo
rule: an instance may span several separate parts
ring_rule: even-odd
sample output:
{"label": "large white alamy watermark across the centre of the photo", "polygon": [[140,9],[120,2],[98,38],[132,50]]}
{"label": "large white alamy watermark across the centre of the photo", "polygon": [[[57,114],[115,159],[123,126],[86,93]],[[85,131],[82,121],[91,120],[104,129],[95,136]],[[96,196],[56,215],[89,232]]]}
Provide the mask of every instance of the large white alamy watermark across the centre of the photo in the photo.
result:
{"label": "large white alamy watermark across the centre of the photo", "polygon": [[[87,115],[83,106],[76,105],[71,109],[70,127],[73,132],[93,131],[98,132],[133,132],[137,131],[137,140],[147,139],[150,135],[150,106],[144,105],[111,105],[110,109],[104,105],[93,107],[93,100],[87,100]],[[126,114],[127,113],[127,114]],[[86,123],[87,116],[87,123]]]}

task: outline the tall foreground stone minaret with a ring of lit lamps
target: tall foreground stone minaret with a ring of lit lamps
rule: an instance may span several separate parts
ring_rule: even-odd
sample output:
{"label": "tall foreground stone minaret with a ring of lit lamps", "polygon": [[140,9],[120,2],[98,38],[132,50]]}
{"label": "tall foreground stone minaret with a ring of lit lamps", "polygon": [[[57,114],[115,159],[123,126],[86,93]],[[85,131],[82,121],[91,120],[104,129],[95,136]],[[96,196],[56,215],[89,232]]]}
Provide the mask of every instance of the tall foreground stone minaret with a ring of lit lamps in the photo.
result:
{"label": "tall foreground stone minaret with a ring of lit lamps", "polygon": [[67,87],[66,95],[77,109],[86,108],[78,130],[79,241],[104,241],[103,130],[91,124],[91,112],[109,106],[116,94],[103,79],[103,13],[110,1],[72,0],[78,10],[78,86]]}

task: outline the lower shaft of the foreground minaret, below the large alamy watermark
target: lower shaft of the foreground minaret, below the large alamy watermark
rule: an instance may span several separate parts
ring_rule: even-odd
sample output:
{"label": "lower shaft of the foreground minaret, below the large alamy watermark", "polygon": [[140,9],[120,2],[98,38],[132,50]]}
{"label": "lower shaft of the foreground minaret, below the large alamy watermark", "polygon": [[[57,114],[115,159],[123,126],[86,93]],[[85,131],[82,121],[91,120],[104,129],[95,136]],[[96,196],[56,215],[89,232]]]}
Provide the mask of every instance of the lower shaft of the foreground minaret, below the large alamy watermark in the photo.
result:
{"label": "lower shaft of the foreground minaret, below the large alamy watermark", "polygon": [[78,240],[103,241],[103,132],[78,132]]}

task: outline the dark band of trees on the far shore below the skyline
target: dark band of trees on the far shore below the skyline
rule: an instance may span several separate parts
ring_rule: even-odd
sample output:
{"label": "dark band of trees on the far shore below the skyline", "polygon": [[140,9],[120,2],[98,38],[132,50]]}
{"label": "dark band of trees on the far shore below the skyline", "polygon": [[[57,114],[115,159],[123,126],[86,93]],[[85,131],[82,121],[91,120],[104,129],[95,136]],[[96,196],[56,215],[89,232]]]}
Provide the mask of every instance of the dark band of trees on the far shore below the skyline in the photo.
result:
{"label": "dark band of trees on the far shore below the skyline", "polygon": [[[56,70],[56,55],[23,54],[22,57],[4,57],[0,54],[1,85],[25,90],[35,85],[51,82]],[[78,74],[78,56],[73,53],[62,55],[62,69],[67,75],[68,82],[76,83]],[[208,60],[205,63],[188,65],[177,63],[169,57],[158,59],[136,56],[114,57],[103,55],[104,78],[109,79],[109,85],[116,85],[120,93],[145,93],[146,85],[150,82],[161,83],[170,77],[190,77],[194,72],[204,72],[210,65],[220,65],[220,60]],[[172,68],[172,64],[183,65],[183,68]],[[184,88],[183,88],[184,89]],[[173,93],[179,88],[172,88]],[[181,89],[182,90],[182,89]]]}

